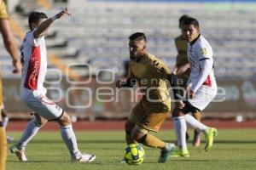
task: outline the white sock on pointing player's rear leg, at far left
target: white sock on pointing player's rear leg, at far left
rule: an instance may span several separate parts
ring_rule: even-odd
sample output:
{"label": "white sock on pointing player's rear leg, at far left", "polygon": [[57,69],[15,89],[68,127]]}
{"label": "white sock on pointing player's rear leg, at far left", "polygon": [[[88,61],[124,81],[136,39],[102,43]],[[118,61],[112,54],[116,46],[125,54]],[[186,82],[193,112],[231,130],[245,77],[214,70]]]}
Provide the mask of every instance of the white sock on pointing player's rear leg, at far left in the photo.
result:
{"label": "white sock on pointing player's rear leg, at far left", "polygon": [[36,119],[27,123],[25,131],[22,133],[20,141],[16,144],[18,150],[25,150],[26,144],[38,133],[40,125]]}

